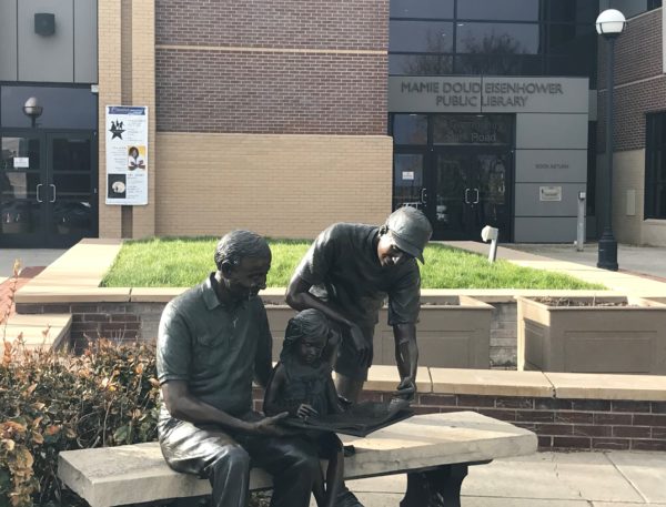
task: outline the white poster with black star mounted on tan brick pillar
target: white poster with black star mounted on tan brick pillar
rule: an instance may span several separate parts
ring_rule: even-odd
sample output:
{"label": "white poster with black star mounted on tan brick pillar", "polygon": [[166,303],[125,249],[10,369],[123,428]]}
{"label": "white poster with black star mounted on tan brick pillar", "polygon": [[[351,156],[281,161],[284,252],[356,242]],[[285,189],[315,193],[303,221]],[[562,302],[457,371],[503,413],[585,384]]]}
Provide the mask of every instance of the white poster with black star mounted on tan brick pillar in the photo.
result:
{"label": "white poster with black star mounted on tan brick pillar", "polygon": [[107,204],[148,204],[148,108],[107,105]]}

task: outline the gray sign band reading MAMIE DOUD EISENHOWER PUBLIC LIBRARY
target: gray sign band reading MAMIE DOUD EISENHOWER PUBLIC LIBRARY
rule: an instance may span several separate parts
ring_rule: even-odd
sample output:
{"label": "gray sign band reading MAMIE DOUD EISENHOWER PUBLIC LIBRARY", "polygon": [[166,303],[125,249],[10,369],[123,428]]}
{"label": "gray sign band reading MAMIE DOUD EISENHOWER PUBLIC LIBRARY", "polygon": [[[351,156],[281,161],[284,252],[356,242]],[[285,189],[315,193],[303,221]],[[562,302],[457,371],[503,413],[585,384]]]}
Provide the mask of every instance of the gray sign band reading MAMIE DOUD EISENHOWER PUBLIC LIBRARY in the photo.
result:
{"label": "gray sign band reading MAMIE DOUD EISENHOWER PUBLIC LIBRARY", "polygon": [[389,111],[587,113],[587,78],[390,77]]}

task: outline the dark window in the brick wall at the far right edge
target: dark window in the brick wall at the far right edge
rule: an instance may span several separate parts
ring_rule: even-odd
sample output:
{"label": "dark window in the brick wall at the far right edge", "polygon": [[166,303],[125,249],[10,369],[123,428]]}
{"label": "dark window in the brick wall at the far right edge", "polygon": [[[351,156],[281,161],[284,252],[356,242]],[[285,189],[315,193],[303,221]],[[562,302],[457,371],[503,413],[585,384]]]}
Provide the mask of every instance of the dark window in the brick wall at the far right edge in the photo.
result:
{"label": "dark window in the brick wall at the far right edge", "polygon": [[645,153],[645,217],[666,220],[666,113],[648,114]]}

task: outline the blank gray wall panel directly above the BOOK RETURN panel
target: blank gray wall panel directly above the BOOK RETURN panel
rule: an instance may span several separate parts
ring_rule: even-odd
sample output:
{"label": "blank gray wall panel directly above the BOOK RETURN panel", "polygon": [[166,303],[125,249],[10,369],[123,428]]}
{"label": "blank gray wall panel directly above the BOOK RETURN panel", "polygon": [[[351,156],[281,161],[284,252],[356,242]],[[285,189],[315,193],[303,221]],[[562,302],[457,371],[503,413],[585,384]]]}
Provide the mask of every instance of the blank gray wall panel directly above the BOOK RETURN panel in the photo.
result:
{"label": "blank gray wall panel directly above the BOOK RETURN panel", "polygon": [[587,113],[516,114],[516,149],[587,149]]}

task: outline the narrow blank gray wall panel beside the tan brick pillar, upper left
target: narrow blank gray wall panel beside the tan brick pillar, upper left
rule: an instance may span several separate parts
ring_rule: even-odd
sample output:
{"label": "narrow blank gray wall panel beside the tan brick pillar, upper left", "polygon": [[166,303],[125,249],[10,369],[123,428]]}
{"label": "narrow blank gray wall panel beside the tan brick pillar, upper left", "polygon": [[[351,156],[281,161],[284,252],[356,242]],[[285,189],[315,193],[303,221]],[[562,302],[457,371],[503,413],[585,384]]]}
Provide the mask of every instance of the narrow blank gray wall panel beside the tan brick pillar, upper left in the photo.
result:
{"label": "narrow blank gray wall panel beside the tan brick pillar, upper left", "polygon": [[74,0],[74,82],[98,82],[97,1]]}

